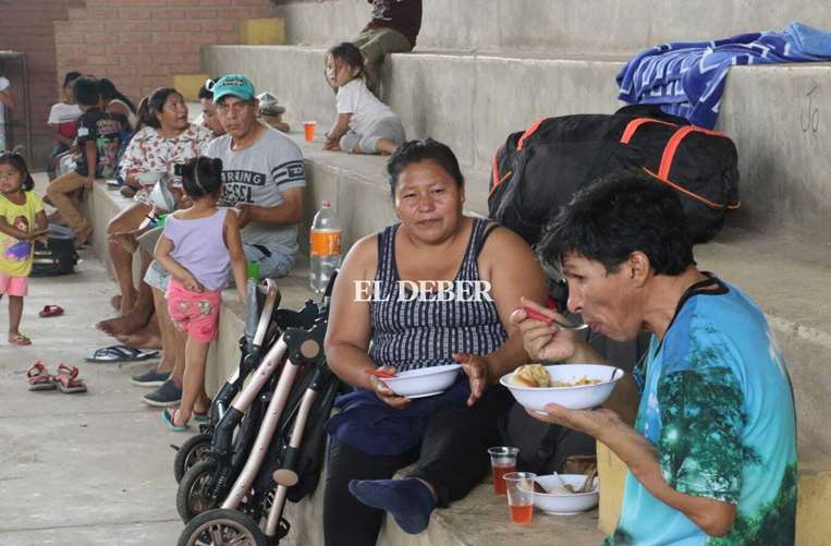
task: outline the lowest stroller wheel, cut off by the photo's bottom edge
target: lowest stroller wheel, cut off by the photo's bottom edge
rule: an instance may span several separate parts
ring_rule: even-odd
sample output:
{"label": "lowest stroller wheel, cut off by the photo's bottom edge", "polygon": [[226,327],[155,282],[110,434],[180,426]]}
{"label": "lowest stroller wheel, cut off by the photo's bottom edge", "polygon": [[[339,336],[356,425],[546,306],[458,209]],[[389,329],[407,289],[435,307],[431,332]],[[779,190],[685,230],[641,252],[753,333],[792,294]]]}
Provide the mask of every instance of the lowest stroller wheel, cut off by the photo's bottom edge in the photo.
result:
{"label": "lowest stroller wheel, cut off by the photo's bottom edge", "polygon": [[179,546],[269,546],[266,535],[250,518],[218,508],[200,513],[185,526]]}

